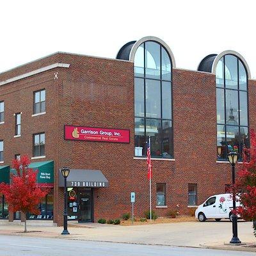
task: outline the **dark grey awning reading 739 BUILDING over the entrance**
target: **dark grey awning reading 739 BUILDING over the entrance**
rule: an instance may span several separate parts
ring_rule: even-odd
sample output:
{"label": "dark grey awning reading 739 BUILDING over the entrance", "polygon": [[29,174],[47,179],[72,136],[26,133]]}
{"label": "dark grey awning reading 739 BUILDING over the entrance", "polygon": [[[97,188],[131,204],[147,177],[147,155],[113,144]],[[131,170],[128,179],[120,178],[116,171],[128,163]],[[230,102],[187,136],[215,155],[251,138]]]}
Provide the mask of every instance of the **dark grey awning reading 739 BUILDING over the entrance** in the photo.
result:
{"label": "dark grey awning reading 739 BUILDING over the entrance", "polygon": [[[59,187],[64,187],[64,178],[59,170]],[[67,187],[70,188],[105,188],[108,180],[100,170],[70,169],[67,177]]]}

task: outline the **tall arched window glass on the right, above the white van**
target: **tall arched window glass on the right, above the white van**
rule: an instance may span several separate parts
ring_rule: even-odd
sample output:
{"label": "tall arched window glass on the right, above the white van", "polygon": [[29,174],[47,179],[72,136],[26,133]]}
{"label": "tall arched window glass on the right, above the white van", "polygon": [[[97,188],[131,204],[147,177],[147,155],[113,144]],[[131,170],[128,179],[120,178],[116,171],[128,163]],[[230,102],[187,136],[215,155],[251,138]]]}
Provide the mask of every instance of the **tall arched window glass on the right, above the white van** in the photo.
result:
{"label": "tall arched window glass on the right, above the white van", "polygon": [[247,74],[237,56],[223,56],[216,67],[217,159],[248,147]]}

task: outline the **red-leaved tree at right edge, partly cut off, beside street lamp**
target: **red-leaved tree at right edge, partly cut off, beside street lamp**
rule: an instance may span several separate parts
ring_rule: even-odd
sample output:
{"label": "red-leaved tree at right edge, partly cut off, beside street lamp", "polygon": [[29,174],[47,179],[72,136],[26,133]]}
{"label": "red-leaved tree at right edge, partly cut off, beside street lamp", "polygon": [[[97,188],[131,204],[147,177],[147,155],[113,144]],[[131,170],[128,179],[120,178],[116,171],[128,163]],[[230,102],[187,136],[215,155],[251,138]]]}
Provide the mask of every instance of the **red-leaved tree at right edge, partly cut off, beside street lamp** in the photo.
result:
{"label": "red-leaved tree at right edge, partly cut off, beside street lamp", "polygon": [[244,220],[253,221],[253,233],[256,236],[256,134],[254,130],[250,131],[250,148],[243,150],[243,164],[238,169],[234,189],[241,203],[241,206],[236,209],[236,214]]}

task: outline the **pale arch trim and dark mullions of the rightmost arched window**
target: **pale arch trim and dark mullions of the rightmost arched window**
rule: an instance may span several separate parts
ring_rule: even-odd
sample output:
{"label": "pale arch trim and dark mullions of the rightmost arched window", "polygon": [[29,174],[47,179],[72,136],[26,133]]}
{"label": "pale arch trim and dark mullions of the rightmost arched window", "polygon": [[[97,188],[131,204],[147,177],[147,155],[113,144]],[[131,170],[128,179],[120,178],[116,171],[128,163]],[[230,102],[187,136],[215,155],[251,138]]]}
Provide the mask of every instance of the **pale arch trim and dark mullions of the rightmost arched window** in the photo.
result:
{"label": "pale arch trim and dark mullions of the rightmost arched window", "polygon": [[[225,56],[228,56],[228,55],[231,55],[231,56],[234,56],[236,57],[237,59],[237,89],[235,88],[227,88],[226,87],[226,71],[225,71],[225,68],[226,68],[226,63],[225,63]],[[244,60],[243,56],[241,56],[241,54],[239,54],[238,52],[235,52],[235,51],[224,51],[224,52],[221,52],[221,54],[219,54],[216,59],[214,60],[213,64],[212,64],[212,73],[216,74],[216,71],[217,71],[217,65],[219,63],[219,61],[221,60],[221,58],[223,58],[223,86],[218,86],[218,84],[216,83],[216,104],[218,106],[218,94],[217,94],[217,91],[218,89],[221,89],[224,91],[224,115],[225,115],[225,122],[224,124],[221,124],[218,122],[218,118],[217,118],[217,160],[219,161],[227,161],[227,154],[228,152],[230,152],[230,150],[234,150],[234,146],[233,148],[228,148],[228,141],[227,141],[227,126],[233,126],[234,129],[235,127],[238,127],[238,133],[239,133],[239,139],[238,139],[238,143],[239,143],[239,147],[238,147],[238,152],[239,152],[239,161],[242,161],[242,154],[241,154],[241,151],[242,151],[242,141],[241,141],[241,129],[247,129],[247,134],[248,134],[248,140],[246,141],[246,147],[250,147],[249,143],[250,143],[250,140],[249,140],[249,131],[250,131],[250,127],[249,127],[249,102],[248,102],[248,79],[250,79],[250,69],[248,67],[248,64],[246,63],[246,61]],[[243,90],[239,87],[239,61],[241,62],[241,65],[243,65],[244,67],[244,70],[246,72],[246,90]],[[216,74],[216,82],[217,82],[217,74]],[[238,125],[230,125],[230,124],[227,124],[227,106],[226,106],[226,97],[227,97],[227,90],[233,90],[233,91],[236,91],[237,92],[237,102],[238,102]],[[241,92],[246,92],[246,100],[247,100],[247,106],[246,106],[246,111],[247,111],[247,124],[246,125],[241,125],[241,101],[240,101],[240,95],[241,95]],[[216,107],[217,107],[216,106]],[[223,157],[220,156],[220,147],[218,147],[218,125],[222,125],[225,127],[225,152],[223,154]]]}

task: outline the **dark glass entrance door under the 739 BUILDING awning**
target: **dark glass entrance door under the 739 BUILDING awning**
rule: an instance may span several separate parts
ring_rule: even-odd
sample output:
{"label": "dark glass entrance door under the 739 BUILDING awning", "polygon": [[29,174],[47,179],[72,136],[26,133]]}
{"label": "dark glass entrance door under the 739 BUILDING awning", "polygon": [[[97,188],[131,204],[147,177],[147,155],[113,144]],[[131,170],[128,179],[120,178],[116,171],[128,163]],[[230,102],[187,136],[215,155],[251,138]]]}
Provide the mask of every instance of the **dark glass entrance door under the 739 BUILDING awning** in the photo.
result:
{"label": "dark glass entrance door under the 739 BUILDING awning", "polygon": [[79,212],[78,221],[79,222],[92,222],[92,189],[83,188],[79,189]]}

